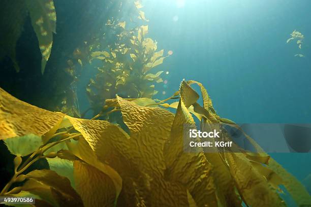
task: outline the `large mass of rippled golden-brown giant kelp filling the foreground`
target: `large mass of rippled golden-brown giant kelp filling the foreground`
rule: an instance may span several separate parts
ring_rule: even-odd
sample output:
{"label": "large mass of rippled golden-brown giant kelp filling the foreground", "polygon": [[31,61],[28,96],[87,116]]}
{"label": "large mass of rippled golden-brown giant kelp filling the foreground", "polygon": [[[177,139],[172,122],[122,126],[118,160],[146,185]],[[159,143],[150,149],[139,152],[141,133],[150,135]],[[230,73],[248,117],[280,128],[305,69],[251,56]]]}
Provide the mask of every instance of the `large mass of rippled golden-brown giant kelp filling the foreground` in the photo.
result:
{"label": "large mass of rippled golden-brown giant kelp filling the foreground", "polygon": [[[200,86],[203,106],[191,84]],[[171,106],[165,101],[119,96],[107,100],[107,106],[121,112],[127,129],[95,120],[98,116],[86,120],[48,112],[0,92],[0,134],[8,148],[23,137],[29,145],[38,137],[43,143],[34,152],[11,150],[17,155],[15,175],[1,195],[33,195],[38,206],[284,206],[278,188],[283,184],[298,205],[310,204],[302,185],[251,137],[247,136],[257,153],[184,152],[182,133],[195,126],[192,113],[201,118],[201,127],[225,123],[238,128],[215,113],[198,82],[182,81],[179,92],[167,98],[179,97],[175,115],[154,107]],[[20,156],[26,154],[22,162]],[[50,169],[22,174],[41,158],[48,160]],[[12,189],[15,182],[23,185]]]}

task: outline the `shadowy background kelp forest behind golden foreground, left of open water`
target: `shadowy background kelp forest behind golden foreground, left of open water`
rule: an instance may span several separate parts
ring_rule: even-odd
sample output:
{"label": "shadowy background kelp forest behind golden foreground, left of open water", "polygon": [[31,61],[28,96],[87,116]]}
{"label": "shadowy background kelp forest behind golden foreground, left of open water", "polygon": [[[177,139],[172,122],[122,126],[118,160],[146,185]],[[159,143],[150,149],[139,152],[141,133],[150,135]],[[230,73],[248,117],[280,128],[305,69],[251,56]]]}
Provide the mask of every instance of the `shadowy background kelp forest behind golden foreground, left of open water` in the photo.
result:
{"label": "shadowy background kelp forest behind golden foreground, left of open water", "polygon": [[83,83],[94,114],[99,102],[115,94],[157,93],[154,83],[163,81],[162,72],[153,67],[166,56],[148,37],[140,1],[5,0],[2,5],[0,81],[11,94],[80,117],[77,85],[89,68],[98,71]]}

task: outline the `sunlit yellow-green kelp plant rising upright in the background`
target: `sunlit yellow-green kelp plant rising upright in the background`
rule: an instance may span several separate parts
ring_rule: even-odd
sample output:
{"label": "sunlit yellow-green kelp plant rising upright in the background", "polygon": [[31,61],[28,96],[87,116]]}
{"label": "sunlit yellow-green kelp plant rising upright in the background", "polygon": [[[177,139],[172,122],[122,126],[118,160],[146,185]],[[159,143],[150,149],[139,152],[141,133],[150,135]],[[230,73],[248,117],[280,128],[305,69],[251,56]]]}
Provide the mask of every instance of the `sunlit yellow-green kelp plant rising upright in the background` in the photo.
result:
{"label": "sunlit yellow-green kelp plant rising upright in the background", "polygon": [[[145,23],[145,15],[139,10],[141,4],[137,1],[135,5],[137,18]],[[131,20],[129,25],[133,25],[132,17]],[[113,39],[113,44],[97,42],[89,47],[89,61],[102,62],[96,77],[90,79],[86,88],[91,108],[97,113],[104,100],[115,94],[126,98],[151,98],[158,92],[154,90],[154,84],[163,82],[160,77],[163,71],[150,73],[165,57],[164,50],[157,51],[157,42],[147,37],[148,25],[127,26],[126,21],[112,18],[106,27],[113,32],[104,33],[103,39]]]}

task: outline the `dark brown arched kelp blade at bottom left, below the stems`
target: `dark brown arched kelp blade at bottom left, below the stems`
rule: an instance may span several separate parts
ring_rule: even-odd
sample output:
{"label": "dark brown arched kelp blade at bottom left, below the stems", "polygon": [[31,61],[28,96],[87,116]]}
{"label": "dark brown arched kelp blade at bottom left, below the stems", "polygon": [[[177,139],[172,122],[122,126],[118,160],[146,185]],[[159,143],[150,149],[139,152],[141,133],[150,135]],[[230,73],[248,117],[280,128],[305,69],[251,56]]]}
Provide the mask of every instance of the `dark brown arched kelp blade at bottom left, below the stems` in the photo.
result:
{"label": "dark brown arched kelp blade at bottom left, below the stems", "polygon": [[56,172],[48,169],[34,170],[26,174],[27,179],[39,181],[40,183],[48,186],[55,196],[66,198],[66,204],[70,206],[82,206],[81,197],[71,187],[70,181],[56,174]]}

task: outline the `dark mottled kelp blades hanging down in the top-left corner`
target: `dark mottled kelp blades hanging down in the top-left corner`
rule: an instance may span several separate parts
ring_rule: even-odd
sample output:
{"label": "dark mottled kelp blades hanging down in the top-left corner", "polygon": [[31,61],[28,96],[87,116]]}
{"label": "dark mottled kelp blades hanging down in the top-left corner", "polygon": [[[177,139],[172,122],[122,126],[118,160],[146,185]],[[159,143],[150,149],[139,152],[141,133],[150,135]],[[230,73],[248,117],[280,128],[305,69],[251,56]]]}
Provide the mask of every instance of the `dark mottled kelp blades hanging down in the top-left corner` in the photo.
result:
{"label": "dark mottled kelp blades hanging down in the top-left corner", "polygon": [[24,20],[29,13],[33,28],[39,41],[42,54],[41,72],[44,73],[53,44],[53,33],[56,31],[56,13],[53,0],[26,0],[26,1],[5,1],[2,4],[1,14],[6,21],[1,21],[0,38],[0,60],[8,55],[18,72],[20,70],[16,61],[16,42],[23,29]]}

